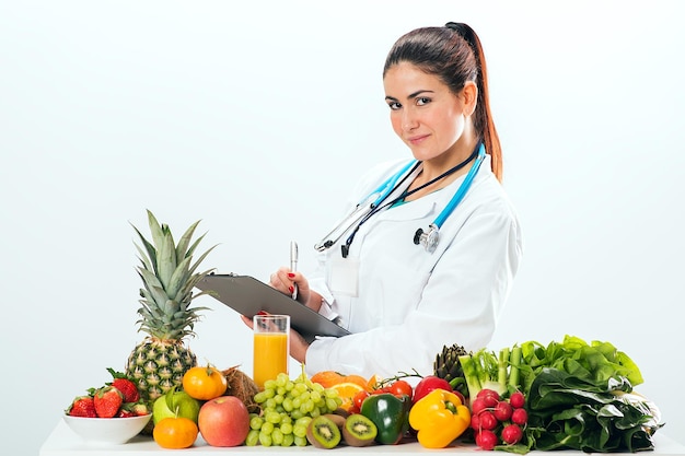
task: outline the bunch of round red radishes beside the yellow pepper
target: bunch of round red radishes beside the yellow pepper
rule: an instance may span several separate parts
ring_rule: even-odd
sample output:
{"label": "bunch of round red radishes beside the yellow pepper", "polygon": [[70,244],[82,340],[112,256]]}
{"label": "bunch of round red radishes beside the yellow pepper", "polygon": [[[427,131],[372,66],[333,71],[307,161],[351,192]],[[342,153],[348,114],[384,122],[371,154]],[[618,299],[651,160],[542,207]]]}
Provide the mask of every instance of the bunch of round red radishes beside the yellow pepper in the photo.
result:
{"label": "bunch of round red radishes beside the yellow pepper", "polygon": [[525,397],[521,391],[512,393],[506,399],[492,389],[481,389],[471,402],[471,426],[476,445],[494,449],[500,444],[521,442],[529,420],[524,406]]}

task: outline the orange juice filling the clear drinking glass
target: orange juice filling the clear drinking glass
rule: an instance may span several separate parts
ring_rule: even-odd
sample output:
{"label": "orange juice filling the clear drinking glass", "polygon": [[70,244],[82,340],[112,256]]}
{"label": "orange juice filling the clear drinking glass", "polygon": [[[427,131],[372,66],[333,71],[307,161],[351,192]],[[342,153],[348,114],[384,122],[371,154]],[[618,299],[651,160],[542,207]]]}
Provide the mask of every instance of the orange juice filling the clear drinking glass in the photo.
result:
{"label": "orange juice filling the clear drinking glass", "polygon": [[255,332],[253,379],[264,388],[264,382],[288,373],[288,334]]}

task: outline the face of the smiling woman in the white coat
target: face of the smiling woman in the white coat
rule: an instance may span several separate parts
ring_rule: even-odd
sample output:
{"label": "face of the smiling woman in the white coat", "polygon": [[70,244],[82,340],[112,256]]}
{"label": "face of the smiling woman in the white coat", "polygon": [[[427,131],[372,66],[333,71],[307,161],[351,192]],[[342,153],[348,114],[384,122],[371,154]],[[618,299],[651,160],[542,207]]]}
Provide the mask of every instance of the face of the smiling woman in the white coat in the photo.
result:
{"label": "face of the smiling woman in the white coat", "polygon": [[430,161],[458,149],[455,144],[475,108],[465,92],[475,86],[455,95],[438,77],[407,62],[391,67],[383,85],[393,129],[415,159]]}

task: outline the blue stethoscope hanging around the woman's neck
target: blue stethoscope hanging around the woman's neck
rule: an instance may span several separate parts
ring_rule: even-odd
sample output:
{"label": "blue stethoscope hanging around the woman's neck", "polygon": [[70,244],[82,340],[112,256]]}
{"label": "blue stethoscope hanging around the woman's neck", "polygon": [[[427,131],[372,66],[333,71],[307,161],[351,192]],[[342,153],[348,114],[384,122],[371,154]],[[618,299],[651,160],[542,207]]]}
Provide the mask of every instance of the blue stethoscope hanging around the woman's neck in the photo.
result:
{"label": "blue stethoscope hanging around the woman's neck", "polygon": [[[450,214],[452,214],[454,209],[458,206],[458,203],[466,196],[466,192],[471,188],[474,182],[474,178],[476,174],[478,173],[480,164],[485,160],[485,155],[486,155],[485,147],[480,143],[478,144],[476,150],[477,152],[474,151],[474,154],[476,155],[475,157],[476,160],[471,166],[471,169],[468,169],[466,177],[464,177],[464,180],[457,188],[456,192],[452,196],[448,204],[444,207],[444,209],[438,214],[436,220],[428,226],[428,232],[425,232],[422,229],[419,227],[414,234],[414,244],[422,245],[423,248],[428,253],[432,254],[433,252],[436,252],[436,247],[438,247],[438,243],[440,241],[440,229],[442,227],[442,224],[445,222],[445,220],[448,220]],[[472,157],[473,155],[469,156],[463,164],[465,165],[466,163],[471,162]],[[418,175],[418,173],[420,172],[419,165],[420,165],[420,162],[411,161],[407,163],[405,166],[403,166],[403,168],[399,169],[399,172],[395,173],[393,176],[387,178],[376,189],[374,189],[371,194],[369,194],[369,196],[362,199],[355,207],[355,210],[348,217],[342,219],[328,234],[324,236],[322,241],[315,244],[314,248],[318,252],[324,252],[333,247],[338,241],[340,241],[340,238],[345,235],[345,233],[350,231],[350,229],[355,227],[355,230],[352,230],[351,234],[348,236],[346,243],[341,245],[342,257],[344,258],[347,257],[347,254],[349,253],[349,246],[351,245],[352,239],[355,238],[355,234],[357,233],[359,227],[367,220],[369,220],[371,215],[373,215],[374,213],[379,212],[380,210],[388,206],[394,204],[398,199],[404,198],[407,195],[405,190],[409,186],[411,180],[414,180],[414,177],[416,177],[416,175]],[[452,168],[449,173],[456,171],[460,167],[461,165],[457,165],[454,168]],[[445,173],[445,175],[446,174],[448,173]],[[443,177],[443,176],[439,176],[439,177]],[[414,191],[416,190],[417,189],[415,189]],[[376,196],[376,197],[375,199],[373,199],[372,202],[370,202],[373,196]],[[386,199],[388,199],[390,202],[384,206],[381,206]]]}

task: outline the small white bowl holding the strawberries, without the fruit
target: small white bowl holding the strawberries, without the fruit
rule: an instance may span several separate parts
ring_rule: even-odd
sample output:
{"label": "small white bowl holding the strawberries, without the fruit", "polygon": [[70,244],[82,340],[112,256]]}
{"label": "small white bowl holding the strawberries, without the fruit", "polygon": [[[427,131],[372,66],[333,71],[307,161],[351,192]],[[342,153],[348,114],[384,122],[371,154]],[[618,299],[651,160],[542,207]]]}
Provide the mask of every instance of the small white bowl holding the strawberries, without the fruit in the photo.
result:
{"label": "small white bowl holding the strawberries, without the fruit", "polygon": [[152,413],[130,418],[82,418],[65,416],[65,421],[89,443],[117,445],[128,442],[143,430]]}

